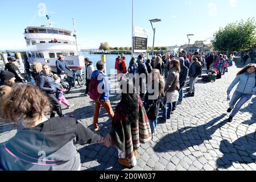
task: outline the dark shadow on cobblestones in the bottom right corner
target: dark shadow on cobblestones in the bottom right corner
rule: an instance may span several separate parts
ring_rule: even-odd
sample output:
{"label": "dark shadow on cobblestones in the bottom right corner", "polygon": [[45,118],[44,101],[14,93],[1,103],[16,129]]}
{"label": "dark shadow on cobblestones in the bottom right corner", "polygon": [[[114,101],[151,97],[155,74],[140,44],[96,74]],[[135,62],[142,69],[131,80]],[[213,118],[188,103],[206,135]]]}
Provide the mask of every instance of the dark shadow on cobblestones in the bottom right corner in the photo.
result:
{"label": "dark shadow on cobblestones in the bottom right corner", "polygon": [[233,162],[243,164],[250,164],[256,162],[256,136],[255,132],[238,138],[233,143],[228,140],[222,140],[220,144],[220,151],[224,154],[217,159],[218,168],[229,168]]}

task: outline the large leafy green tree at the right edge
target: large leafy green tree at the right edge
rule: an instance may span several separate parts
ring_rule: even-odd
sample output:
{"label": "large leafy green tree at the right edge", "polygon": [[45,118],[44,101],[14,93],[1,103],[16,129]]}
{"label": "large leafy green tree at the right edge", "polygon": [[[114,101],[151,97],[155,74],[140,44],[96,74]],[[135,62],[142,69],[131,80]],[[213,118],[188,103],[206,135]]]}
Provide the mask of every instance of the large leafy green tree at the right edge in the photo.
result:
{"label": "large leafy green tree at the right edge", "polygon": [[246,22],[229,23],[225,28],[220,28],[214,35],[212,44],[218,51],[246,51],[255,46],[256,23],[254,18]]}

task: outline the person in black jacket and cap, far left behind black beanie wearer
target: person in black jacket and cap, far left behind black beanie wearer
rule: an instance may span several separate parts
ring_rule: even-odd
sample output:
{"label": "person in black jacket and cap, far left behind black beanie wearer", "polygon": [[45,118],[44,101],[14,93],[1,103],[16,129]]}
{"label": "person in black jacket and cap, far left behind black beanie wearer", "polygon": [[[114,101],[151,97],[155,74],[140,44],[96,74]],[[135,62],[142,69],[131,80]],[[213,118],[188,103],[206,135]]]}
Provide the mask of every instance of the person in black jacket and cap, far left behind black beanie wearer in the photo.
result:
{"label": "person in black jacket and cap, far left behind black beanie wearer", "polygon": [[5,70],[13,73],[15,75],[15,82],[27,83],[27,80],[22,76],[18,68],[18,62],[15,57],[8,57],[9,63],[5,65]]}

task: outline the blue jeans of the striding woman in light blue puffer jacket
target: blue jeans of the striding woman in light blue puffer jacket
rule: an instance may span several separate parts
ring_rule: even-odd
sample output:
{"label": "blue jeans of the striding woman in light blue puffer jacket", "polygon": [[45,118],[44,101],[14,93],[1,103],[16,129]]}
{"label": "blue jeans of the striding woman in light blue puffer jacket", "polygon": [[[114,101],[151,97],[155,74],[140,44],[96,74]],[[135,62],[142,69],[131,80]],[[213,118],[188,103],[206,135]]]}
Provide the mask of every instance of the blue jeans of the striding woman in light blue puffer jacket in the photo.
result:
{"label": "blue jeans of the striding woman in light blue puffer jacket", "polygon": [[[234,117],[238,113],[238,111],[241,109],[243,104],[245,104],[247,101],[249,101],[251,97],[253,97],[253,94],[245,94],[245,93],[235,91],[232,96],[232,100],[230,101],[230,104],[229,104],[230,109],[234,109],[232,111],[232,113],[230,114],[230,116]],[[235,105],[236,105],[236,107],[235,107]]]}

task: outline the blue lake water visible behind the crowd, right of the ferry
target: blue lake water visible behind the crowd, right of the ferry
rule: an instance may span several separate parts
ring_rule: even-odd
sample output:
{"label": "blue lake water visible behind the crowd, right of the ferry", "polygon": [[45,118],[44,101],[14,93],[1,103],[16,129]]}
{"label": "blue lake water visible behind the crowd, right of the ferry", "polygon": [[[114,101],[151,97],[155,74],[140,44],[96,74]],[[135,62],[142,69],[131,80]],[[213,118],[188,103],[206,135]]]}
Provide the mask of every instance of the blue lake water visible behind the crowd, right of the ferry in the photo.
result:
{"label": "blue lake water visible behind the crowd, right of the ferry", "polygon": [[[90,61],[93,62],[94,69],[96,69],[96,63],[101,60],[101,55],[90,55],[88,52],[81,52],[84,57],[88,57]],[[118,55],[106,55],[106,74],[114,74],[117,73],[115,70],[115,59]],[[129,64],[131,60],[131,55],[126,56],[126,63]],[[151,57],[151,56],[150,56]]]}

